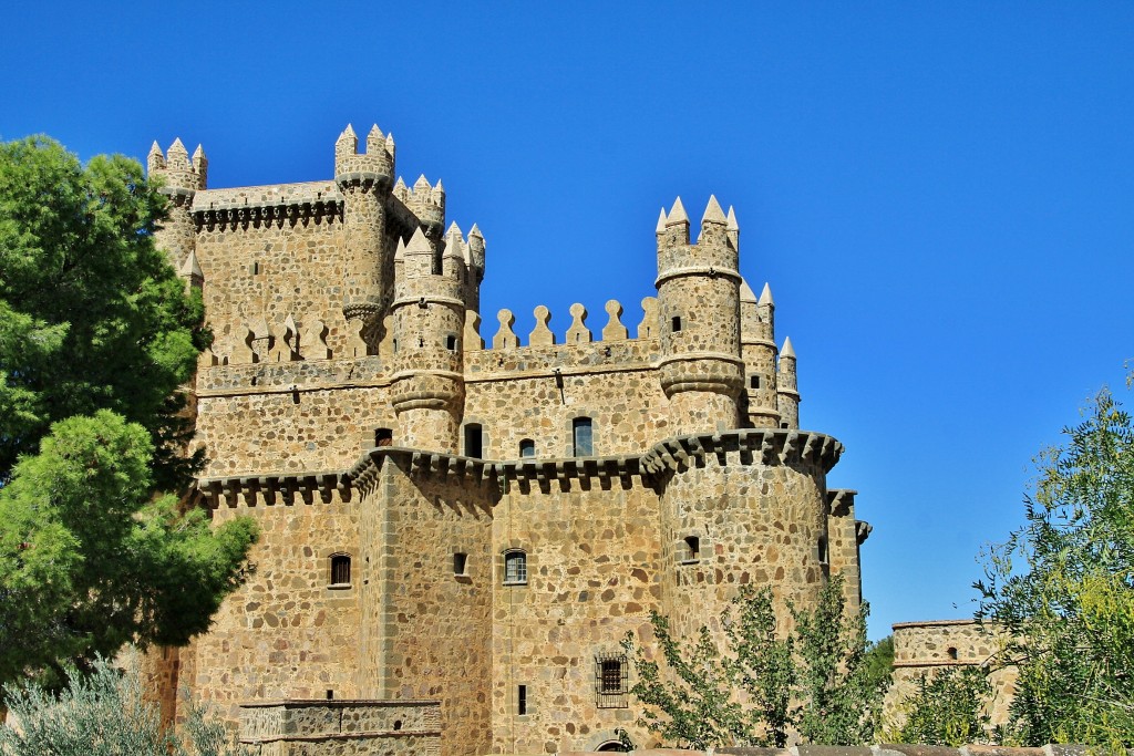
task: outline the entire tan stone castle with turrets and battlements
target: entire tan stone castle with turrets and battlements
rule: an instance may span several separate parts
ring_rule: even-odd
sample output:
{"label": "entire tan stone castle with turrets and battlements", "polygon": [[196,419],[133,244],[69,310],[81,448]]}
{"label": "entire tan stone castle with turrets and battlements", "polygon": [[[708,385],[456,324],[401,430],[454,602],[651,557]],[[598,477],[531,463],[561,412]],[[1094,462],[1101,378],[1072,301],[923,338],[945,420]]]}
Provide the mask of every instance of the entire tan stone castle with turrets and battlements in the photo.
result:
{"label": "entire tan stone castle with turrets and battlements", "polygon": [[376,126],[338,137],[330,180],[209,189],[179,139],[149,171],[215,334],[197,495],[261,528],[210,632],[153,655],[167,714],[184,686],[262,754],[651,745],[620,647],[651,610],[719,628],[741,585],[782,610],[832,572],[858,606],[843,445],[799,430],[796,356],[716,198],[695,241],[662,211],[633,332],[611,300],[598,335],[539,307],[522,343],[503,309],[485,343],[484,237],[446,228],[440,181],[395,179]]}

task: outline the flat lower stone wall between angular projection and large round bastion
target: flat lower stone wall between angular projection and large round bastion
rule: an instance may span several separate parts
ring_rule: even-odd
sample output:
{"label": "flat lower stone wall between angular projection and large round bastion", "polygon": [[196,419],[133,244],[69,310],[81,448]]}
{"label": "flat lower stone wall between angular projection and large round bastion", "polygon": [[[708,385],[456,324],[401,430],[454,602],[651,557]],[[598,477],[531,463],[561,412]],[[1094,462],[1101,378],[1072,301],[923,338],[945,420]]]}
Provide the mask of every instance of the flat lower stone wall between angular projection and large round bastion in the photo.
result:
{"label": "flat lower stone wall between angular projection and large round bastion", "polygon": [[[509,481],[492,532],[492,753],[587,748],[616,728],[648,739],[631,710],[600,708],[594,657],[620,653],[627,631],[648,632],[660,605],[657,508],[640,479]],[[502,585],[509,549],[526,553],[525,584]]]}

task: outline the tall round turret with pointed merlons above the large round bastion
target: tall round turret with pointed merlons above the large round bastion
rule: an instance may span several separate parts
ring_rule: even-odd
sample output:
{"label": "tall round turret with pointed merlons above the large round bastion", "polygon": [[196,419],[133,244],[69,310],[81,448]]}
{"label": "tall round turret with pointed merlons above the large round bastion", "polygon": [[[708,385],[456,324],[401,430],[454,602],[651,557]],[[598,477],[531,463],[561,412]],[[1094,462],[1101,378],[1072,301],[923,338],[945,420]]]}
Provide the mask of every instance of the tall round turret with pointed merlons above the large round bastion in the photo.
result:
{"label": "tall round turret with pointed merlons above the large round bastion", "polygon": [[[662,211],[665,213],[665,211]],[[739,426],[741,273],[734,235],[717,197],[689,244],[680,197],[658,221],[661,388],[678,433]]]}

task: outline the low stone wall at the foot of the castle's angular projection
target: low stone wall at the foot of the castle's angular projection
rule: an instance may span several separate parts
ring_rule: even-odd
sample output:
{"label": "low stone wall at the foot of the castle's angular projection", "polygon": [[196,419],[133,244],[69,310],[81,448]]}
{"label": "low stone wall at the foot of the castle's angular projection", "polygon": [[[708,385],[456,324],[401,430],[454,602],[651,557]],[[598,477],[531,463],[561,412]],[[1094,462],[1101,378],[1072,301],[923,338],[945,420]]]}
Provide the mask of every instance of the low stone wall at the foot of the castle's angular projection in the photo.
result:
{"label": "low stone wall at the foot of the castle's angular projection", "polygon": [[439,756],[435,700],[277,700],[240,706],[256,756]]}

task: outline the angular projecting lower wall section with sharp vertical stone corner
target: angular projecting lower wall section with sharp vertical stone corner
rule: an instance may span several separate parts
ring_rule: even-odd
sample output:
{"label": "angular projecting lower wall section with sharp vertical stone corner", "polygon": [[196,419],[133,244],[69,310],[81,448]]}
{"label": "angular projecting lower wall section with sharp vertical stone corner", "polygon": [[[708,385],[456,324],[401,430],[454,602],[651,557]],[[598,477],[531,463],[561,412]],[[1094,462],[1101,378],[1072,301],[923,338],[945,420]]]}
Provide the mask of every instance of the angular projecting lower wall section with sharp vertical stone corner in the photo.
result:
{"label": "angular projecting lower wall section with sharp vertical stone corner", "polygon": [[[386,457],[364,504],[364,559],[373,577],[359,686],[370,697],[439,698],[442,754],[484,753],[493,489],[468,478],[411,476],[405,464],[405,456]],[[460,574],[456,554],[465,555]]]}

